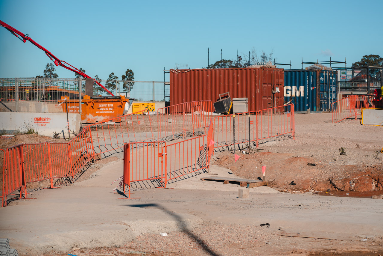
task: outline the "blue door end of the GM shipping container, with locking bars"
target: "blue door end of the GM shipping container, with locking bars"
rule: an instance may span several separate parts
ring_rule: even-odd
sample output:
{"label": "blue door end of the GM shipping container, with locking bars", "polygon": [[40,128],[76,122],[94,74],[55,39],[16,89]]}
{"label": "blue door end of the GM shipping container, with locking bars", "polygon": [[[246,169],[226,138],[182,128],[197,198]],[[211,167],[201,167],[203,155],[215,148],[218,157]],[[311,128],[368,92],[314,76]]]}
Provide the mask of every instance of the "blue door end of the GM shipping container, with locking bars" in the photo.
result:
{"label": "blue door end of the GM shipping container, with locking bars", "polygon": [[320,110],[331,111],[332,103],[337,100],[337,72],[322,70],[320,76]]}

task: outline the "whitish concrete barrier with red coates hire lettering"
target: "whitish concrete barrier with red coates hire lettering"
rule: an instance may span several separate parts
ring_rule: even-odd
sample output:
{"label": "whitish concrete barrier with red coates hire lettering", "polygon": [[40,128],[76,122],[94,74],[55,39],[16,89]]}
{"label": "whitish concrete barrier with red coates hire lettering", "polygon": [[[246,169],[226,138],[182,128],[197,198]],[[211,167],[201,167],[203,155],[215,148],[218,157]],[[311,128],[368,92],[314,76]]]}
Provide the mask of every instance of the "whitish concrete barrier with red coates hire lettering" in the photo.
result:
{"label": "whitish concrete barrier with red coates hire lettering", "polygon": [[[80,130],[80,114],[69,114],[69,129],[71,135]],[[54,132],[64,130],[68,135],[67,114],[65,113],[29,113],[29,112],[0,112],[0,130],[5,133],[25,133],[33,128],[40,135],[53,136]],[[62,138],[62,134],[60,136]]]}

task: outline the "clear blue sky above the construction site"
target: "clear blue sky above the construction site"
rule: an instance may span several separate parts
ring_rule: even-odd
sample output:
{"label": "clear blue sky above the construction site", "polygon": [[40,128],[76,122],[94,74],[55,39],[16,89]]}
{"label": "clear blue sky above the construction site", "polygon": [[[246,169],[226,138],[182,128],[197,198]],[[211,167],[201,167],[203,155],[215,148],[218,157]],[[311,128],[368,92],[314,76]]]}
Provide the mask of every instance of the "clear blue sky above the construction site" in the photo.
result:
{"label": "clear blue sky above the construction site", "polygon": [[[248,56],[280,63],[383,56],[383,1],[18,1],[0,0],[0,20],[92,77],[163,81],[175,63],[190,68]],[[375,24],[375,25],[374,25]],[[0,28],[0,77],[42,75],[50,59]],[[60,78],[74,74],[56,67]],[[167,75],[166,80],[169,79]]]}

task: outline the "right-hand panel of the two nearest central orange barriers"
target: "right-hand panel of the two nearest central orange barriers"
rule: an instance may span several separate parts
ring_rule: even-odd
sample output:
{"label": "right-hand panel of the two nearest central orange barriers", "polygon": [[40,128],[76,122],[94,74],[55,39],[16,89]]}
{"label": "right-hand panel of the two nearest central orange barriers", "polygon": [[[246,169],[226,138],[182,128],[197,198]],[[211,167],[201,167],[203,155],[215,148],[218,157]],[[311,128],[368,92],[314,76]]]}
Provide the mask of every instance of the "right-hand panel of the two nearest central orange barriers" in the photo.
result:
{"label": "right-hand panel of the two nearest central orange barriers", "polygon": [[206,135],[166,145],[165,183],[196,171],[207,170],[205,145]]}

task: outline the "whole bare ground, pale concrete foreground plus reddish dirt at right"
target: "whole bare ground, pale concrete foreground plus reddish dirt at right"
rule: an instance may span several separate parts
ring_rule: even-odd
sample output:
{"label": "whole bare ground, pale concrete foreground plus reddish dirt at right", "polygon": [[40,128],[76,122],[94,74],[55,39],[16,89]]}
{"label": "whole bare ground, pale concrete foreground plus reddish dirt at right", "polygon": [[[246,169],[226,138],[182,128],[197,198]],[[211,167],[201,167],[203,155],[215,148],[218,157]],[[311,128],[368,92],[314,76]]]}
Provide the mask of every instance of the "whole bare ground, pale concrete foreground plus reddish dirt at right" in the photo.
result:
{"label": "whole bare ground, pale concrete foreground plus reddish dirt at right", "polygon": [[[383,194],[383,127],[296,114],[295,128],[295,140],[237,150],[237,162],[215,152],[210,173],[136,191],[138,199],[113,193],[120,153],[98,160],[73,185],[1,208],[0,237],[22,256],[383,255],[383,200],[371,199]],[[256,179],[262,165],[270,186],[251,188],[248,199],[238,198],[238,184],[201,180]]]}

